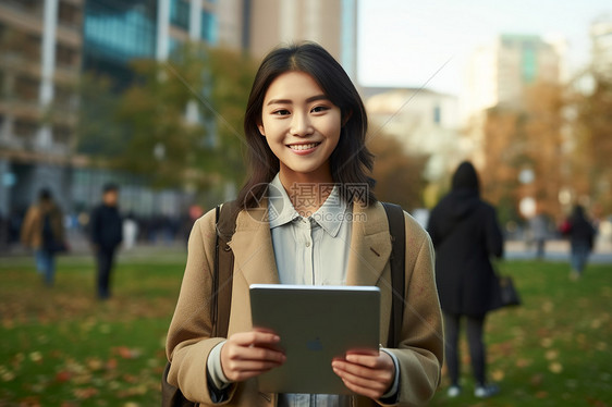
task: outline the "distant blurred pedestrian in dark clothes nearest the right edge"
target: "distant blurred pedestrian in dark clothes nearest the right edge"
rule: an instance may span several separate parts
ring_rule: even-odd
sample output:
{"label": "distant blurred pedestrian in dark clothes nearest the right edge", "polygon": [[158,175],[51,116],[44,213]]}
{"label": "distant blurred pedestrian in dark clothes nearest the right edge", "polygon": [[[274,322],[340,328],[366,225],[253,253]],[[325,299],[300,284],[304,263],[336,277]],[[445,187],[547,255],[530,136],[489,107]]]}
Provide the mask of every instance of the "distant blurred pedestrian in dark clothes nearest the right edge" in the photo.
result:
{"label": "distant blurred pedestrian in dark clothes nearest the right edge", "polygon": [[587,260],[595,245],[596,230],[585,215],[585,208],[576,205],[572,215],[565,223],[565,233],[570,236],[572,246],[570,278],[578,280],[587,266]]}

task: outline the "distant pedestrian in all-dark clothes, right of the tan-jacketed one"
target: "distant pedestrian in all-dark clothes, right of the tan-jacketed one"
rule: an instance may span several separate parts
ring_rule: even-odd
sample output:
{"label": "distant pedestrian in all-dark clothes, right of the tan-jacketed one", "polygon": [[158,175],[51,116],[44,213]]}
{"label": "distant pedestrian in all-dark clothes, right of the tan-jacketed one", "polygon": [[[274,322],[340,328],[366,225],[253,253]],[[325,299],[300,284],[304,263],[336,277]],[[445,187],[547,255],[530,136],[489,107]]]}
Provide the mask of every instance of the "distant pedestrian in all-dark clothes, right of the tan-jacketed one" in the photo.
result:
{"label": "distant pedestrian in all-dark clothes, right of the tan-jacketed one", "polygon": [[110,281],[117,247],[123,240],[123,222],[119,213],[119,187],[103,187],[102,203],[94,209],[89,218],[91,244],[98,262],[98,297],[110,297]]}

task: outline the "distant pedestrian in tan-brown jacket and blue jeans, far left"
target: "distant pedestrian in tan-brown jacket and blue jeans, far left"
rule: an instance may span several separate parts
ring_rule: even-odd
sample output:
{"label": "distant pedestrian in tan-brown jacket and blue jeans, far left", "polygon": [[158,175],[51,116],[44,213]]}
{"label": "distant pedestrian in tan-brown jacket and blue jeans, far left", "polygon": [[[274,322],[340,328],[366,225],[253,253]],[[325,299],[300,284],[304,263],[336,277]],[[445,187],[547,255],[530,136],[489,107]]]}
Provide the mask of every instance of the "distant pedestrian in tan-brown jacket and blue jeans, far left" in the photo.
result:
{"label": "distant pedestrian in tan-brown jacket and blue jeans, far left", "polygon": [[66,249],[62,220],[62,211],[53,201],[51,192],[44,188],[38,202],[27,210],[22,225],[22,243],[34,249],[36,270],[42,274],[47,286],[54,282],[56,255]]}

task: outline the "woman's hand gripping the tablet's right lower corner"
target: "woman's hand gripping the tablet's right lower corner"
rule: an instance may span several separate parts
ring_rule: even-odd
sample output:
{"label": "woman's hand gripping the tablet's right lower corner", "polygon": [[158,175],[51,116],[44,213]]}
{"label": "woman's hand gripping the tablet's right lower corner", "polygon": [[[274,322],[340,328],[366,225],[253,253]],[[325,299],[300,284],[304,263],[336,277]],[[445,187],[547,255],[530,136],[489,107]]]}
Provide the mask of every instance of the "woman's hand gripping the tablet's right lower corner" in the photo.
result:
{"label": "woman's hand gripping the tablet's right lower corner", "polygon": [[348,390],[372,399],[389,392],[395,380],[395,363],[385,351],[348,351],[344,359],[333,359],[331,367]]}

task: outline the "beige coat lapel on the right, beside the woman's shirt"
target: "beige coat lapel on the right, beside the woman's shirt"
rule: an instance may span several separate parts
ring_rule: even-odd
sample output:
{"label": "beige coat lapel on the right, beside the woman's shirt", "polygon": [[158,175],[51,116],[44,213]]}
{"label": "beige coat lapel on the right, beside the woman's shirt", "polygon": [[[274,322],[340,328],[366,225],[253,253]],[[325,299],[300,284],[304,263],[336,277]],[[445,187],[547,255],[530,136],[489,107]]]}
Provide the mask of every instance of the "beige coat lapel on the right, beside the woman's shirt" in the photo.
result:
{"label": "beige coat lapel on the right, beside the woman's shirt", "polygon": [[391,256],[389,223],[381,203],[353,205],[346,285],[377,285]]}

